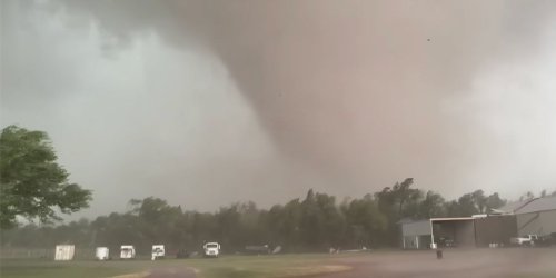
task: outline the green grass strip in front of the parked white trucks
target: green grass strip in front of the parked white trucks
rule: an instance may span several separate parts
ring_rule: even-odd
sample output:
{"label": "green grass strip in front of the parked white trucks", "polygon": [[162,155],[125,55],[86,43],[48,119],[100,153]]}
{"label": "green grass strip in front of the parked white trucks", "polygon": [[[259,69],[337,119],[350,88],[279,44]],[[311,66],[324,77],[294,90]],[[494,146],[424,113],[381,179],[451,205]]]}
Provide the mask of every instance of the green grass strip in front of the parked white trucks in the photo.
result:
{"label": "green grass strip in front of the parked white trucks", "polygon": [[[337,258],[337,257],[336,257]],[[2,260],[2,278],[64,278],[64,277],[112,277],[143,272],[152,268],[191,267],[202,278],[258,278],[296,277],[327,272],[326,265],[334,264],[328,255],[280,255],[280,256],[224,256],[217,259],[166,259],[159,261],[67,261]]]}

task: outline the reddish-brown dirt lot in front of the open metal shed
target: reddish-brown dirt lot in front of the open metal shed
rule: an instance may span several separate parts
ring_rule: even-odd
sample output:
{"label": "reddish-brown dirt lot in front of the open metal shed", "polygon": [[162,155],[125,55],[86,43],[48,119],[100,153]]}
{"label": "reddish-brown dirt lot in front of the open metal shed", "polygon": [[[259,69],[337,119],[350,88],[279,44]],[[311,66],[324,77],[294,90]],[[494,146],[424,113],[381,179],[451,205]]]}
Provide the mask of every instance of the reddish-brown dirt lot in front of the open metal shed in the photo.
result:
{"label": "reddish-brown dirt lot in front of the open metal shed", "polygon": [[427,251],[377,252],[338,260],[351,271],[327,278],[548,278],[556,277],[556,248],[444,250],[444,258]]}

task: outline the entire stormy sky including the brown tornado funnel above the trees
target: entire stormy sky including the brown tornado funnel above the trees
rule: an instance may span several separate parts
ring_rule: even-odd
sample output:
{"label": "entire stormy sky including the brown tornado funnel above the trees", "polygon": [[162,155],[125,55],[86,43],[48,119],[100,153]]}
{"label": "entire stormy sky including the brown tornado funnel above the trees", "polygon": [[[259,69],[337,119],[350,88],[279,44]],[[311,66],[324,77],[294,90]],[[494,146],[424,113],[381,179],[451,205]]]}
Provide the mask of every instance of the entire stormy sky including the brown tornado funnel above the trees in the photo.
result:
{"label": "entire stormy sky including the brown tornado funnel above the trees", "polygon": [[555,1],[1,0],[1,24],[0,123],[50,135],[78,216],[556,189]]}

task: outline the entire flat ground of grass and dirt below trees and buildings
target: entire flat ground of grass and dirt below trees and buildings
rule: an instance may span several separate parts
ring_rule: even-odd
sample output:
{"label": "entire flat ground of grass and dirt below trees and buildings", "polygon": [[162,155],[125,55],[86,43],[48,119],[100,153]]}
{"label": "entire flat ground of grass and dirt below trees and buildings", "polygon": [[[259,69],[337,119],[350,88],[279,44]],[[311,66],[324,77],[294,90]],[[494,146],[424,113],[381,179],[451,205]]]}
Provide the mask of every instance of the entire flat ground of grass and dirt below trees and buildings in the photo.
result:
{"label": "entire flat ground of grass and dirt below trees and buildings", "polygon": [[0,276],[2,278],[189,278],[195,276],[200,278],[284,278],[319,277],[327,274],[329,278],[548,278],[556,277],[555,261],[556,248],[453,249],[445,250],[441,260],[437,260],[430,250],[389,250],[334,256],[325,254],[224,256],[218,259],[195,258],[159,261],[3,260],[1,261]]}

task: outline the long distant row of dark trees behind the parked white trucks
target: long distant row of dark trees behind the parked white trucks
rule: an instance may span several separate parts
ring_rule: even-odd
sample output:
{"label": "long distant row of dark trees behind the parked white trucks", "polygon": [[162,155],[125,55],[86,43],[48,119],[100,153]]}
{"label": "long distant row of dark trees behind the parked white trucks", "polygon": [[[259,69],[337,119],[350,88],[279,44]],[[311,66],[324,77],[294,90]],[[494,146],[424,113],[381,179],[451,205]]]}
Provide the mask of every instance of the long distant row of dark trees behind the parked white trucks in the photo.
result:
{"label": "long distant row of dark trees behind the parked white trucks", "polygon": [[[170,251],[198,250],[202,242],[219,241],[225,251],[245,246],[281,246],[285,251],[325,251],[328,248],[380,248],[398,245],[403,219],[463,217],[487,214],[506,203],[498,193],[476,190],[446,201],[434,191],[413,187],[408,178],[361,198],[344,199],[309,190],[305,198],[261,209],[255,202],[237,202],[215,212],[186,210],[149,197],[131,200],[126,212],[64,225],[24,225],[1,235],[3,247],[51,248],[73,244],[78,248],[135,245],[147,252],[152,244]],[[554,195],[554,193],[553,193]]]}

